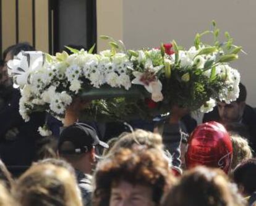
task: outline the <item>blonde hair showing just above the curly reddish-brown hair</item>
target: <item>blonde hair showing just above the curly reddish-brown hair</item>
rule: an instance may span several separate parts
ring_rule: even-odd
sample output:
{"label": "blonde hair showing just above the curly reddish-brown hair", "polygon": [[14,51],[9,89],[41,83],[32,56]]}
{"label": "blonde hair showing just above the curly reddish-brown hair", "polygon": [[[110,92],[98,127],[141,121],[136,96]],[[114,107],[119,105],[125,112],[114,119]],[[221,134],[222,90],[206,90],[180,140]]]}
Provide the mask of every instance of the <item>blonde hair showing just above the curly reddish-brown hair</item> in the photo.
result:
{"label": "blonde hair showing just above the curly reddish-brown hair", "polygon": [[132,133],[121,136],[109,150],[109,153],[116,152],[119,148],[132,148],[137,146],[147,147],[148,149],[163,149],[163,139],[160,134],[145,130],[135,130]]}

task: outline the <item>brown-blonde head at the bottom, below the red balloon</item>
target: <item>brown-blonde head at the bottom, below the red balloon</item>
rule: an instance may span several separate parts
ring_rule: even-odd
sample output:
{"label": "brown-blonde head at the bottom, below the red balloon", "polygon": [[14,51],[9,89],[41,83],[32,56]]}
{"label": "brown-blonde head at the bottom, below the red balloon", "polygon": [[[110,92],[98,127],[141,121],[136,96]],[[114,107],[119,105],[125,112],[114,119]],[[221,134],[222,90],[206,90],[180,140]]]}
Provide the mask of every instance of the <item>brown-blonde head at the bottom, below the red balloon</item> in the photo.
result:
{"label": "brown-blonde head at the bottom, below the red balloon", "polygon": [[182,175],[162,206],[242,206],[235,184],[219,169],[197,167]]}

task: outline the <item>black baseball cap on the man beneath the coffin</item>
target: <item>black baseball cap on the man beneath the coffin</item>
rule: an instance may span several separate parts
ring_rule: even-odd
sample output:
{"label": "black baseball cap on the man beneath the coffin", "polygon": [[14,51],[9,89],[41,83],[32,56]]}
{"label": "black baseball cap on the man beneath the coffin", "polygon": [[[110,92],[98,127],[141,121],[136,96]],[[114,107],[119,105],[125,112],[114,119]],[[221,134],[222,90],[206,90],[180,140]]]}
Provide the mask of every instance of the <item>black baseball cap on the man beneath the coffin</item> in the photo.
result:
{"label": "black baseball cap on the man beneath the coffin", "polygon": [[[72,147],[65,148],[65,142],[69,142]],[[90,151],[94,146],[109,147],[108,144],[100,141],[92,126],[85,123],[74,123],[65,128],[59,136],[60,154],[82,154]]]}

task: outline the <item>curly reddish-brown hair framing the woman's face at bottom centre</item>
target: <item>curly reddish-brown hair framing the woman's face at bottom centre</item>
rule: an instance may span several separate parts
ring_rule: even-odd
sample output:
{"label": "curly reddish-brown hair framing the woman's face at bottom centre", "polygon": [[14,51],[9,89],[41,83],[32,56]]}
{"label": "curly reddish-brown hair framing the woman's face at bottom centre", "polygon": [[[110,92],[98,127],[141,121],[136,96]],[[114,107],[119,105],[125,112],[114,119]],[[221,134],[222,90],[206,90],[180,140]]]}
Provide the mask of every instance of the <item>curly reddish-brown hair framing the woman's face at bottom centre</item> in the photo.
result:
{"label": "curly reddish-brown hair framing the woman's face at bottom centre", "polygon": [[95,172],[93,205],[109,205],[111,187],[120,181],[152,188],[156,204],[173,178],[160,149],[121,149],[98,163]]}

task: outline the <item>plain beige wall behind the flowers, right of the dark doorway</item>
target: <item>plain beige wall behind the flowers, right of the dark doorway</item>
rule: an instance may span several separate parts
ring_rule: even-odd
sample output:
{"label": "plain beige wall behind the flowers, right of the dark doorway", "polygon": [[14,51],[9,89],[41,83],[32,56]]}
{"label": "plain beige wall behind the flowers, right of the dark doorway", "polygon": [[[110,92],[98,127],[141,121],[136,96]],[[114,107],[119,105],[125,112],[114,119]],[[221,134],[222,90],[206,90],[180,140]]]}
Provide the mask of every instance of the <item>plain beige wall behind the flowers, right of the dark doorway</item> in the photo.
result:
{"label": "plain beige wall behind the flowers, right of the dark doorway", "polygon": [[97,3],[98,35],[113,34],[133,49],[156,47],[172,39],[189,47],[195,33],[207,30],[211,20],[216,20],[218,27],[229,31],[235,43],[248,53],[241,54],[233,67],[239,69],[247,86],[247,102],[256,107],[255,0],[97,0]]}

